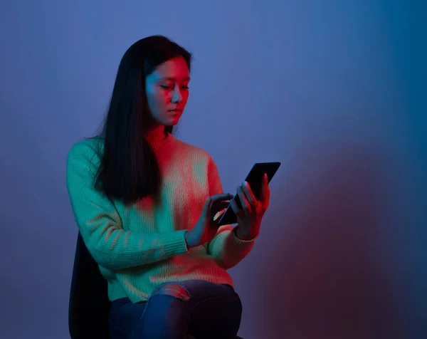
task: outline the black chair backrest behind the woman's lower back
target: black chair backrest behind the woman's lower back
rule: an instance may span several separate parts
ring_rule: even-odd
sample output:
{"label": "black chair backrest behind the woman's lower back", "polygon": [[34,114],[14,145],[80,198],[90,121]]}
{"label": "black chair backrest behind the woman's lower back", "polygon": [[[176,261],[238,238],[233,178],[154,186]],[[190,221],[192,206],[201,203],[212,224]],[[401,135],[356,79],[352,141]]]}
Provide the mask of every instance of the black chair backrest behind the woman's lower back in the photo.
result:
{"label": "black chair backrest behind the woman's lower back", "polygon": [[68,328],[72,339],[110,339],[107,281],[79,232],[70,288]]}

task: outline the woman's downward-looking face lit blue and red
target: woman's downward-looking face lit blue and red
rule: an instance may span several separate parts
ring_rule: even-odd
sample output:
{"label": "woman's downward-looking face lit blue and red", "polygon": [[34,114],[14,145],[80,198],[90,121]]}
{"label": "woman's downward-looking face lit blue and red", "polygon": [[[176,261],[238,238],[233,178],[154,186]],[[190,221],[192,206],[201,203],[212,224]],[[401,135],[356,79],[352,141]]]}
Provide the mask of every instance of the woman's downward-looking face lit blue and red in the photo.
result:
{"label": "woman's downward-looking face lit blue and red", "polygon": [[154,122],[174,126],[189,98],[189,68],[181,56],[160,64],[145,79],[147,102]]}

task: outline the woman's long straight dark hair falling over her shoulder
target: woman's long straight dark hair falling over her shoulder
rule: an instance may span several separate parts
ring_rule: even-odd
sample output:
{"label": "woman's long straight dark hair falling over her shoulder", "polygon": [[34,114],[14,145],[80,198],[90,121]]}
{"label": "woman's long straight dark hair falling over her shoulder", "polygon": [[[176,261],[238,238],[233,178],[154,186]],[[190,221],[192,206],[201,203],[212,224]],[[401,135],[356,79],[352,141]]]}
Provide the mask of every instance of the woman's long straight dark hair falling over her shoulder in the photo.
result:
{"label": "woman's long straight dark hair falling over her shoulder", "polygon": [[[120,61],[110,106],[102,131],[100,166],[95,187],[110,199],[132,204],[157,198],[161,177],[152,148],[142,136],[152,122],[145,93],[145,78],[165,61],[181,56],[191,68],[191,53],[164,36],[149,36],[134,43]],[[174,126],[164,126],[172,133]]]}

